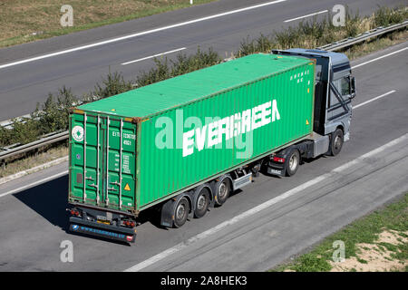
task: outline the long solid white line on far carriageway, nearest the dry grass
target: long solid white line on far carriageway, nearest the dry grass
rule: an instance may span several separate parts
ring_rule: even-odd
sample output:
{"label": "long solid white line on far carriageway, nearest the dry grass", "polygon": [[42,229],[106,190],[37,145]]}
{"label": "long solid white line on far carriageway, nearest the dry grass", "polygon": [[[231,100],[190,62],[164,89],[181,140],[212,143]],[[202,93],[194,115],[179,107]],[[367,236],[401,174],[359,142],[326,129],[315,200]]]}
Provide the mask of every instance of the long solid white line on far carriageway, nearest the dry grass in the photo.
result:
{"label": "long solid white line on far carriageway, nearest the dry grass", "polygon": [[65,53],[73,53],[73,52],[76,52],[76,51],[80,51],[80,50],[95,47],[95,46],[100,46],[100,45],[107,44],[107,43],[115,43],[115,42],[119,42],[119,41],[124,40],[124,39],[129,39],[129,38],[132,38],[132,37],[136,37],[136,36],[141,36],[141,35],[145,35],[145,34],[153,34],[153,33],[157,33],[157,32],[167,30],[167,29],[170,29],[170,28],[180,27],[180,26],[184,26],[184,25],[188,25],[188,24],[195,24],[195,23],[198,23],[198,22],[201,22],[201,21],[206,21],[206,20],[209,20],[209,19],[219,18],[219,17],[226,16],[226,15],[229,15],[229,14],[237,14],[237,13],[240,13],[240,12],[257,9],[257,8],[260,8],[260,7],[265,7],[267,5],[274,5],[274,4],[285,2],[285,1],[287,1],[287,0],[271,1],[271,2],[260,4],[260,5],[253,5],[253,6],[249,6],[249,7],[245,7],[245,8],[240,8],[240,9],[228,11],[228,12],[221,13],[221,14],[214,14],[214,15],[210,15],[210,16],[206,16],[206,17],[202,17],[202,18],[198,18],[198,19],[194,19],[194,20],[189,20],[189,21],[186,21],[186,22],[182,22],[180,24],[171,24],[171,25],[168,25],[168,26],[163,26],[163,27],[151,29],[151,30],[144,31],[144,32],[141,32],[141,33],[137,33],[137,34],[129,34],[129,35],[113,38],[113,39],[110,39],[110,40],[102,41],[102,42],[99,42],[99,43],[92,43],[92,44],[88,44],[88,45],[74,47],[74,48],[63,50],[63,51],[57,52],[57,53],[48,53],[48,54],[32,57],[32,58],[25,59],[25,60],[18,61],[18,62],[14,62],[14,63],[5,63],[3,65],[0,65],[0,69],[3,69],[5,67],[9,67],[9,66],[13,66],[13,65],[17,65],[17,64],[30,63],[30,62],[38,61],[38,60],[41,60],[41,59],[44,59],[44,58],[48,58],[48,57],[52,57],[52,56],[56,56],[56,55],[61,55],[61,54],[65,54]]}

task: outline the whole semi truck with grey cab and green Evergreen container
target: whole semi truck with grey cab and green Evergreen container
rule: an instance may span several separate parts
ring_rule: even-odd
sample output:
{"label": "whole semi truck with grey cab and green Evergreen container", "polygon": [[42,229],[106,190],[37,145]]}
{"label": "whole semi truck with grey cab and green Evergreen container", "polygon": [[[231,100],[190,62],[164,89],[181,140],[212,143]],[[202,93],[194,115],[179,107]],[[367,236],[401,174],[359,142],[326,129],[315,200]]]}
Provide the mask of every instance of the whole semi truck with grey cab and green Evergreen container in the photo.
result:
{"label": "whole semi truck with grey cab and green Evergreen container", "polygon": [[72,108],[69,230],[134,243],[141,212],[182,227],[263,172],[350,138],[355,78],[343,53],[255,53]]}

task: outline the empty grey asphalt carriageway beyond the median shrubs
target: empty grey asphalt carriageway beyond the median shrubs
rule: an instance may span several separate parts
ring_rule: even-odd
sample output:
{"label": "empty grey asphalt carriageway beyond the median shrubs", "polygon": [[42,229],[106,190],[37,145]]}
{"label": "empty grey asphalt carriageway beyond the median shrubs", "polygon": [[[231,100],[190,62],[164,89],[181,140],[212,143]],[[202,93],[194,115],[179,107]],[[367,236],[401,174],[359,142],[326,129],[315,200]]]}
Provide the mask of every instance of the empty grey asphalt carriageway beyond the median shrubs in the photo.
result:
{"label": "empty grey asphalt carriageway beyond the median shrubs", "polygon": [[[271,34],[274,30],[280,30],[282,27],[301,21],[285,23],[287,20],[324,10],[330,11],[334,5],[348,5],[354,12],[359,11],[363,15],[371,14],[377,5],[394,6],[404,3],[402,0],[280,1],[282,2],[273,5],[225,14],[3,68],[2,66],[8,63],[49,53],[59,53],[63,50],[151,31],[172,24],[185,23],[210,15],[224,14],[270,1],[221,0],[122,24],[107,25],[80,33],[0,49],[0,121],[34,111],[37,102],[44,102],[49,92],[55,93],[63,85],[72,88],[77,94],[91,92],[96,82],[101,82],[109,69],[112,72],[123,73],[126,79],[134,79],[137,73],[149,70],[153,65],[151,59],[127,65],[121,63],[180,48],[185,48],[183,53],[195,53],[198,46],[203,49],[213,47],[222,56],[229,56],[231,52],[237,51],[241,41],[248,35],[256,37],[260,33]],[[317,16],[324,17],[324,15],[318,14]],[[171,58],[176,53],[167,55]]]}

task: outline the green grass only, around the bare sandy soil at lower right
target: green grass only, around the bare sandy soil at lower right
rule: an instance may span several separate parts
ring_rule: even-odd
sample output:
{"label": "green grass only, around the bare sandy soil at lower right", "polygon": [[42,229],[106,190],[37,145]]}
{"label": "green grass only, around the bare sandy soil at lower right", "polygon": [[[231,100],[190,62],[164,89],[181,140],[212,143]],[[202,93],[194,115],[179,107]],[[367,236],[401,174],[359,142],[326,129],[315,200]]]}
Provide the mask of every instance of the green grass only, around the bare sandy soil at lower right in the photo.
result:
{"label": "green grass only, around the bare sandy soil at lower right", "polygon": [[[378,235],[384,229],[400,232],[408,230],[408,193],[400,200],[385,208],[360,218],[352,224],[344,227],[314,247],[310,252],[298,256],[293,262],[277,266],[271,271],[295,270],[297,272],[320,272],[330,271],[329,261],[332,260],[333,242],[342,240],[345,242],[345,258],[355,256],[357,261],[367,264],[367,261],[358,257],[356,245],[359,243],[374,244]],[[395,246],[390,243],[379,243],[380,248],[392,251],[393,259],[403,262],[408,259],[408,245]],[[405,268],[406,269],[406,268]]]}

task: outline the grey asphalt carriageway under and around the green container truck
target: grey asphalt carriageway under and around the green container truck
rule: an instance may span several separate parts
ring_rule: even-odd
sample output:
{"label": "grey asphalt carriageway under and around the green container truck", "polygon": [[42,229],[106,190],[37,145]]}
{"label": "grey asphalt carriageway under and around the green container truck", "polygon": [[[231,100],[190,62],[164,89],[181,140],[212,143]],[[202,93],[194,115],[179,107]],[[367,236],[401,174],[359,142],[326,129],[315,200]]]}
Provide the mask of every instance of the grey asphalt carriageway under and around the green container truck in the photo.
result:
{"label": "grey asphalt carriageway under and around the green container truck", "polygon": [[[406,45],[395,45],[352,65],[399,51]],[[196,243],[183,243],[407,134],[408,84],[404,77],[407,56],[405,50],[355,69],[358,84],[355,104],[395,92],[354,111],[352,139],[345,143],[339,156],[306,162],[290,179],[261,176],[229,198],[222,208],[211,208],[206,217],[191,219],[180,229],[162,229],[145,215],[132,247],[65,232],[66,176],[0,198],[0,270],[122,271],[180,244],[186,247],[141,270],[257,271],[277,265],[407,191],[407,141]],[[0,194],[63,170],[66,164],[0,185]],[[73,263],[60,261],[63,240],[73,241]]]}

